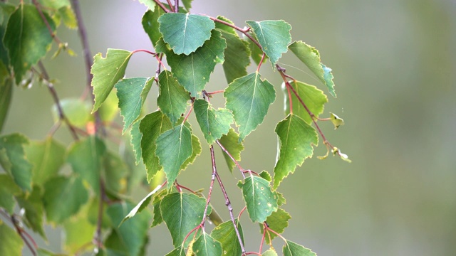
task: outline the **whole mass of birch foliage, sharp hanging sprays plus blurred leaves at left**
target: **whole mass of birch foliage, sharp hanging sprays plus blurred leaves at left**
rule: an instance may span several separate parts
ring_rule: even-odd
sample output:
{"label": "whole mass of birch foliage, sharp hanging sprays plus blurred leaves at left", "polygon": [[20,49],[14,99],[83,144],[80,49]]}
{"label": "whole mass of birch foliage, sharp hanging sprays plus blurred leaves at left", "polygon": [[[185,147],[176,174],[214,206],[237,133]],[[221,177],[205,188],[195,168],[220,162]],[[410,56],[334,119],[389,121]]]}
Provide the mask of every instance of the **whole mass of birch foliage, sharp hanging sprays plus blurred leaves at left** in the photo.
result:
{"label": "whole mass of birch foliage, sharp hanging sprays plus blurred leaves at left", "polygon": [[[69,28],[77,25],[68,1],[33,2],[17,6],[0,3],[0,129],[14,82],[28,85],[36,77],[38,71],[33,67],[56,41],[55,30],[61,20]],[[83,134],[83,139],[63,146],[52,134],[43,141],[30,141],[22,134],[0,135],[0,164],[5,171],[0,174],[0,213],[16,228],[0,221],[0,237],[7,238],[0,240],[0,255],[19,255],[26,242],[21,238],[25,232],[16,225],[16,204],[24,209],[21,222],[44,239],[45,216],[46,223],[61,225],[66,233],[66,252],[71,254],[90,249],[94,234],[99,255],[144,254],[147,225],[152,220],[151,227],[165,223],[170,231],[174,250],[168,255],[245,255],[240,217],[247,210],[263,234],[259,254],[277,255],[273,247],[264,252],[261,248],[264,242],[271,245],[279,237],[284,240],[284,255],[315,255],[280,235],[291,216],[281,208],[285,199],[276,189],[313,155],[318,134],[328,152],[348,160],[318,127],[318,120],[330,120],[336,127],[343,124],[335,114],[319,117],[328,102],[324,92],[286,75],[278,63],[291,50],[335,97],[331,69],[321,63],[318,50],[303,41],[291,43],[291,26],[285,21],[247,21],[247,28],[239,28],[223,16],[190,14],[190,0],[182,1],[183,8],[168,5],[171,1],[141,2],[148,8],[142,26],[155,52],[108,49],[105,57],[98,53],[90,69],[93,107],[80,99],[56,102],[56,122],[66,122],[72,131]],[[68,48],[58,41],[60,50]],[[125,78],[130,58],[138,52],[157,59],[155,76]],[[257,70],[248,73],[251,59]],[[284,79],[286,114],[275,128],[279,151],[274,176],[239,166],[244,139],[264,121],[276,100],[274,85],[259,73],[268,61]],[[227,86],[209,88],[206,85],[217,64],[223,67]],[[51,84],[46,76],[38,75],[38,80]],[[158,110],[146,114],[148,92],[154,84],[159,89]],[[212,97],[224,97],[224,107],[214,107]],[[100,124],[109,129],[119,110],[122,134],[130,134],[127,144],[131,150],[124,154],[110,149],[108,137],[97,132]],[[194,126],[201,130],[205,143],[194,134],[187,118],[192,112],[197,119]],[[90,128],[94,126],[95,131]],[[206,197],[177,183],[180,172],[201,154],[202,144],[207,144],[212,156]],[[245,208],[237,218],[214,164],[214,144],[222,148],[229,170],[237,167],[243,177],[238,186]],[[62,170],[66,163],[71,171]],[[147,182],[154,184],[147,188],[154,189],[135,206],[128,195],[146,174]],[[158,185],[162,178],[165,182]],[[209,203],[216,179],[230,214],[225,222]],[[147,207],[150,204],[152,211]],[[204,228],[207,216],[216,225],[210,233]],[[52,255],[42,249],[37,252]]]}

